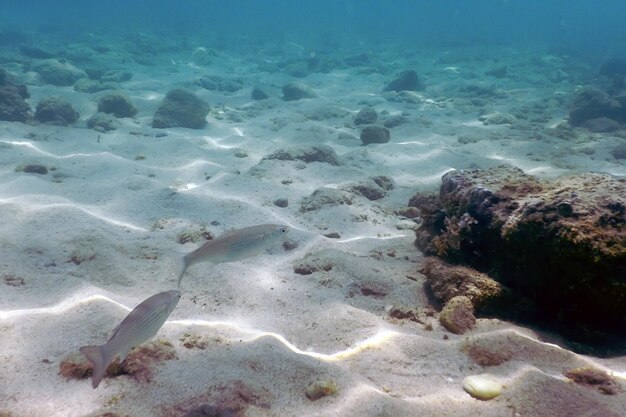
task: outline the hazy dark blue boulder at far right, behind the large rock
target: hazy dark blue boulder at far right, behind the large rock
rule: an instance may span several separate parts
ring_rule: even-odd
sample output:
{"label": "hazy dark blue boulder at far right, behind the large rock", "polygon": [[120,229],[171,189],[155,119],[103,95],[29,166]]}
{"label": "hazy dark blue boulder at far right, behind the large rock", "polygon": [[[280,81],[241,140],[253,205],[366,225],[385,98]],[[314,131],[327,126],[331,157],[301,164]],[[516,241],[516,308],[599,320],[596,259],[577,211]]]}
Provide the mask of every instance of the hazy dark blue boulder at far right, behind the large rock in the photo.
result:
{"label": "hazy dark blue boulder at far right, behind the large rock", "polygon": [[624,111],[619,101],[594,87],[586,87],[574,98],[569,110],[569,122],[572,126],[581,126],[590,119],[606,117],[619,120]]}

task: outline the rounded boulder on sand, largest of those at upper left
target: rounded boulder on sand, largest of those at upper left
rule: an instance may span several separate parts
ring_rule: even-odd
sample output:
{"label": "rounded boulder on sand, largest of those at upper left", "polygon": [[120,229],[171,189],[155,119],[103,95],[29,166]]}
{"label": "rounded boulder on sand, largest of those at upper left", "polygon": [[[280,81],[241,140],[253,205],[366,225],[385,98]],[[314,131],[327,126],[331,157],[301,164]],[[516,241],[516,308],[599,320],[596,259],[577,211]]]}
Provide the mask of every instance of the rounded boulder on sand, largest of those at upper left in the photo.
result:
{"label": "rounded boulder on sand, largest of those at upper left", "polygon": [[170,90],[154,114],[152,127],[186,127],[202,129],[206,126],[209,105],[193,93],[177,88]]}

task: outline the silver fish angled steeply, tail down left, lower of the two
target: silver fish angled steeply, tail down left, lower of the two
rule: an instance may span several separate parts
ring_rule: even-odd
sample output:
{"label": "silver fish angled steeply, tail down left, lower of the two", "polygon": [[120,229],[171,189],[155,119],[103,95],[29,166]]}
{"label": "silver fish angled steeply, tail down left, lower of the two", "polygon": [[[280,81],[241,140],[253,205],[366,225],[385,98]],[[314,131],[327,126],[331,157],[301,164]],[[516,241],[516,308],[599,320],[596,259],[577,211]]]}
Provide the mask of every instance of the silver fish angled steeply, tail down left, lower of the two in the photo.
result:
{"label": "silver fish angled steeply, tail down left, lower of the two", "polygon": [[154,294],[142,301],[113,330],[109,340],[100,346],[83,346],[80,352],[93,365],[91,385],[98,387],[109,364],[119,356],[120,363],[128,352],[152,339],[180,300],[180,291],[170,290]]}

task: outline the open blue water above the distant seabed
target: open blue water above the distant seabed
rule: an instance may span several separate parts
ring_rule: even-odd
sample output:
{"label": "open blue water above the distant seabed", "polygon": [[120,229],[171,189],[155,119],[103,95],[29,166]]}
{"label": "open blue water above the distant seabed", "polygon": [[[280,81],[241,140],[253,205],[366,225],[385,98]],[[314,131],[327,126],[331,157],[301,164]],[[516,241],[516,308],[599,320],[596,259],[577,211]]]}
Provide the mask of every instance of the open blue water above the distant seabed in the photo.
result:
{"label": "open blue water above the distant seabed", "polygon": [[626,52],[624,16],[620,0],[4,0],[0,30],[360,37],[416,47],[530,43],[603,56]]}

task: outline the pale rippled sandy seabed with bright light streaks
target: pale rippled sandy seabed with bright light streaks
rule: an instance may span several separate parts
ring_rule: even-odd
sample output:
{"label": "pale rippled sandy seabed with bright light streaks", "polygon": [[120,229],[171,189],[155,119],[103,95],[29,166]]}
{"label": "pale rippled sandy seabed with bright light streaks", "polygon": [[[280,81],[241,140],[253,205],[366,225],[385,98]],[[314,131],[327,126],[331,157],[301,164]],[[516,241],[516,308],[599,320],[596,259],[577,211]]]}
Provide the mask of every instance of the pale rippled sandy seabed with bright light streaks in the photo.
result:
{"label": "pale rippled sandy seabed with bright light streaks", "polygon": [[[239,393],[246,390],[252,394],[240,403],[246,403],[247,416],[574,415],[567,414],[572,406],[589,413],[584,415],[626,415],[624,393],[602,395],[567,383],[562,375],[593,365],[623,378],[624,358],[576,355],[498,320],[478,320],[469,334],[456,336],[436,318],[428,319],[429,331],[387,313],[391,306],[428,304],[413,232],[396,227],[401,219],[394,210],[416,191],[435,190],[445,172],[510,163],[543,176],[590,170],[626,175],[623,163],[608,154],[617,137],[585,134],[584,142],[529,138],[566,116],[566,106],[549,99],[569,98],[576,88],[574,82],[551,83],[538,72],[533,58],[545,56],[494,51],[511,73],[495,80],[482,75],[485,62],[442,70],[447,65],[436,59],[445,52],[425,51],[419,60],[398,63],[399,69],[415,67],[428,85],[420,93],[421,104],[405,104],[381,97],[390,76],[356,70],[307,76],[300,81],[320,97],[284,102],[280,87],[292,78],[259,72],[252,61],[237,56],[221,55],[206,68],[189,65],[190,53],[182,51],[173,63],[154,70],[126,68],[134,77],[123,88],[139,114],[124,119],[116,131],[84,128],[105,93],[46,85],[29,85],[30,103],[34,107],[41,97],[63,95],[81,114],[76,126],[2,124],[0,275],[23,278],[24,285],[0,281],[0,415],[182,415],[180,410],[210,404],[220,395],[246,397]],[[394,53],[388,52],[390,57]],[[482,53],[490,62],[489,52]],[[546,74],[568,71],[556,58],[546,62]],[[246,88],[224,95],[191,85],[206,73],[239,75]],[[475,79],[508,94],[499,105],[488,106],[490,111],[547,103],[545,121],[484,126],[472,105],[445,100],[447,89]],[[272,98],[252,102],[255,82]],[[203,130],[150,128],[160,100],[179,84],[214,107],[209,125]],[[225,109],[222,120],[215,117],[219,103]],[[358,139],[338,139],[340,132],[358,138],[349,122],[365,104],[379,114],[405,112],[409,123],[393,128],[388,144],[362,147]],[[352,115],[323,121],[304,116],[326,106]],[[228,121],[233,113],[242,121]],[[155,138],[160,132],[167,136]],[[476,141],[462,144],[460,137]],[[343,164],[260,162],[275,150],[313,144],[331,146]],[[588,155],[588,149],[595,153]],[[248,157],[237,157],[236,150]],[[15,172],[23,163],[56,170],[45,176]],[[393,178],[396,188],[376,202],[359,197],[353,205],[299,211],[301,200],[316,189],[372,175]],[[289,206],[274,206],[277,197],[288,198]],[[128,309],[176,285],[173,252],[196,247],[177,244],[178,233],[206,226],[219,235],[268,222],[292,226],[289,239],[297,248],[285,251],[278,245],[243,262],[191,267],[183,279],[183,298],[158,335],[174,345],[178,359],[156,365],[152,382],[121,376],[105,379],[94,390],[88,380],[59,375],[68,354],[103,343]],[[321,236],[329,232],[341,238]],[[77,265],[73,257],[84,261]],[[294,265],[311,258],[330,263],[332,270],[294,273]],[[380,295],[363,295],[363,288]],[[185,333],[208,341],[207,348],[183,347],[179,340]],[[483,368],[461,351],[468,338],[493,339],[519,354]],[[500,397],[482,402],[463,391],[463,378],[480,373],[504,383]],[[304,395],[309,384],[329,378],[339,387],[336,395],[317,401]]]}

